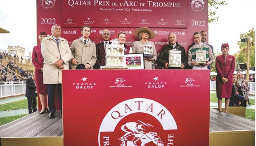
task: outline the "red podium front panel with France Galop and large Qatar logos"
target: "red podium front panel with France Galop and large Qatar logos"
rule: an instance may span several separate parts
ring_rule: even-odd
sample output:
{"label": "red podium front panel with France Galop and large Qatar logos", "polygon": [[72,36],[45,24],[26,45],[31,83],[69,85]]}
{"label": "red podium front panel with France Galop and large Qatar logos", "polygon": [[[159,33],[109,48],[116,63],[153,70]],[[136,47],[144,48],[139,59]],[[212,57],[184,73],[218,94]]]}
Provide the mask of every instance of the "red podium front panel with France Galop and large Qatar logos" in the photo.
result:
{"label": "red podium front panel with France Galop and large Qatar logos", "polygon": [[63,70],[64,146],[209,145],[209,70]]}

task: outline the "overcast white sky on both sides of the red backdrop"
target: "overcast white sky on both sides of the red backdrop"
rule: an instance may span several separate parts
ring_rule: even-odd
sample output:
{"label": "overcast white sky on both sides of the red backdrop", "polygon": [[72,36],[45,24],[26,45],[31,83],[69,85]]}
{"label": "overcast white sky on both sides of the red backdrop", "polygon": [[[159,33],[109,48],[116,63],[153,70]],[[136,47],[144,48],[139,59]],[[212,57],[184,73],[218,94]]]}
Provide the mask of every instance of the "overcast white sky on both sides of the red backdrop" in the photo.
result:
{"label": "overcast white sky on both sides of the red backdrop", "polygon": [[[220,0],[219,0],[220,1]],[[218,21],[209,24],[208,41],[214,51],[220,51],[222,43],[230,45],[230,54],[239,51],[240,34],[255,28],[255,0],[225,0],[216,16]],[[0,50],[10,46],[25,47],[25,55],[36,46],[36,0],[0,0],[0,28],[9,34],[0,34]]]}

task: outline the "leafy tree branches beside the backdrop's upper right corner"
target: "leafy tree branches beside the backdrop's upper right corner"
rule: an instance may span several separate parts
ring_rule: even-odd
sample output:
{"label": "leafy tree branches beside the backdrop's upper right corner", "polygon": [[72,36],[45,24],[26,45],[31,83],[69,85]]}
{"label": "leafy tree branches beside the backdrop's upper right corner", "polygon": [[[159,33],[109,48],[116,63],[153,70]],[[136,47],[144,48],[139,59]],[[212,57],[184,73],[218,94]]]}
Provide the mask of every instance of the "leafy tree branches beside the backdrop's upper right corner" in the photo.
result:
{"label": "leafy tree branches beside the backdrop's upper right corner", "polygon": [[218,21],[219,17],[216,17],[216,11],[219,9],[220,5],[227,5],[225,0],[218,2],[218,0],[208,0],[208,23],[213,21]]}

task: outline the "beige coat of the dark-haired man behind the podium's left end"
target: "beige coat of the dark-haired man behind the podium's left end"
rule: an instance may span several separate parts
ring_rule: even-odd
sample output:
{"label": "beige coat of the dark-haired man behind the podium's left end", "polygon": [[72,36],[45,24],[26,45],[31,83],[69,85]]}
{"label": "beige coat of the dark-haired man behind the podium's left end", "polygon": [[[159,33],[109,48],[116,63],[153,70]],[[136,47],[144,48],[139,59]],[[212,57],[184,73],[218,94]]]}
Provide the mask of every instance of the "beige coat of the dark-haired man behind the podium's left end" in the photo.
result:
{"label": "beige coat of the dark-haired man behind the podium's left end", "polygon": [[[92,40],[89,39],[89,41],[84,44],[83,40],[81,38],[78,38],[72,42],[72,45],[70,46],[72,58],[76,58],[78,61],[78,64],[84,64],[87,63],[91,66],[90,69],[93,69],[93,65],[96,63],[96,46]],[[71,63],[72,70],[76,70],[77,65],[73,65]]]}

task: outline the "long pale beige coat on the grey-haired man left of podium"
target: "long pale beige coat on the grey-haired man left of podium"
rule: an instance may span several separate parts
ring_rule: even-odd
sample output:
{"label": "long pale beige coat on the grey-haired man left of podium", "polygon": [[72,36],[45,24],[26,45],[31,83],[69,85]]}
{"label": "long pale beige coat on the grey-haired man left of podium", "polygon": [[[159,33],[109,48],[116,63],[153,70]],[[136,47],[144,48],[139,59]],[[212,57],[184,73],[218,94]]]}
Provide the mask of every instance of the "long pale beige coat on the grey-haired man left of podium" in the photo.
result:
{"label": "long pale beige coat on the grey-haired man left of podium", "polygon": [[52,35],[50,37],[45,37],[42,39],[41,51],[44,58],[44,84],[62,83],[62,70],[54,65],[55,61],[62,59],[64,61],[64,70],[69,70],[71,51],[68,41],[62,37],[59,40],[59,50],[57,47],[57,43],[53,39]]}

